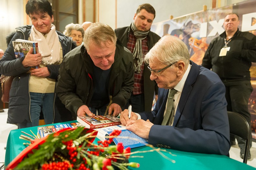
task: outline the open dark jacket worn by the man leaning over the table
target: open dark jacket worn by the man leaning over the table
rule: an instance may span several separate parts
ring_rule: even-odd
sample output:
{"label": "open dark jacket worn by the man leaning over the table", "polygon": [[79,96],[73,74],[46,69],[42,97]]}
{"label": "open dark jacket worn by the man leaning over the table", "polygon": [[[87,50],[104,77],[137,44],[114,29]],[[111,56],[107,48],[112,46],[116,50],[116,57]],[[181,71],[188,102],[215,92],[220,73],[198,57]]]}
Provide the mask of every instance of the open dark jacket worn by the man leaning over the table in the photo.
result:
{"label": "open dark jacket worn by the man leaning over the table", "polygon": [[[93,64],[85,47],[80,45],[70,51],[60,65],[56,92],[72,113],[77,113],[80,106],[88,105],[91,101],[94,90]],[[108,83],[112,103],[121,108],[125,106],[133,90],[133,79],[133,55],[118,40]]]}

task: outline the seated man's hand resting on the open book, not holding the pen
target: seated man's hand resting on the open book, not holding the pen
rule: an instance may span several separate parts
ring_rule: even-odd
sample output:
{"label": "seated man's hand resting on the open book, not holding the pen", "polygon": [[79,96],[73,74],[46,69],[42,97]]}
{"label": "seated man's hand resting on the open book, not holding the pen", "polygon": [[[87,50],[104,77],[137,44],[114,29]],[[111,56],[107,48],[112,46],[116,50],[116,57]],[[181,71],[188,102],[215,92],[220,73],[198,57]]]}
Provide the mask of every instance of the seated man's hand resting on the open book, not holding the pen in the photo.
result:
{"label": "seated man's hand resting on the open book, not holding the pen", "polygon": [[153,125],[154,124],[151,123],[148,119],[147,119],[147,121],[145,121],[143,119],[130,120],[126,124],[126,129],[132,131],[133,133],[135,133],[139,137],[142,137],[144,139],[148,139],[150,128]]}

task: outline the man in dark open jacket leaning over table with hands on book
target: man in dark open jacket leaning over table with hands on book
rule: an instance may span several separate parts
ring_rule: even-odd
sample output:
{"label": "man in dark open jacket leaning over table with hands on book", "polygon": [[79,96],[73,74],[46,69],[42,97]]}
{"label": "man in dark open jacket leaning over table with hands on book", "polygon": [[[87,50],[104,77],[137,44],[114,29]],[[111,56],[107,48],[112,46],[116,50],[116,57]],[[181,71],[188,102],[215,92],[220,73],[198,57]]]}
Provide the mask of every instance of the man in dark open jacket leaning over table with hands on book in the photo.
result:
{"label": "man in dark open jacket leaning over table with hands on book", "polygon": [[93,23],[84,45],[65,56],[59,73],[56,92],[71,112],[117,116],[133,90],[133,55],[110,26]]}

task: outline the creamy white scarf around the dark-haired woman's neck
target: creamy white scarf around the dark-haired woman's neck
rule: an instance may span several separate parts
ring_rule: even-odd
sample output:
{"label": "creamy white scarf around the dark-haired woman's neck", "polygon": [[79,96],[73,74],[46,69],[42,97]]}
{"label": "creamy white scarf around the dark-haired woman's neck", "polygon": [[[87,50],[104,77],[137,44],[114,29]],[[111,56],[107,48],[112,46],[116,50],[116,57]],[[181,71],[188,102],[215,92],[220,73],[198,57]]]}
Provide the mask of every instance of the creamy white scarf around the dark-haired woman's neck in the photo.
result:
{"label": "creamy white scarf around the dark-haired woman's neck", "polygon": [[41,54],[44,65],[60,62],[59,36],[53,24],[46,37],[32,25],[29,37],[31,41],[38,42],[38,53]]}

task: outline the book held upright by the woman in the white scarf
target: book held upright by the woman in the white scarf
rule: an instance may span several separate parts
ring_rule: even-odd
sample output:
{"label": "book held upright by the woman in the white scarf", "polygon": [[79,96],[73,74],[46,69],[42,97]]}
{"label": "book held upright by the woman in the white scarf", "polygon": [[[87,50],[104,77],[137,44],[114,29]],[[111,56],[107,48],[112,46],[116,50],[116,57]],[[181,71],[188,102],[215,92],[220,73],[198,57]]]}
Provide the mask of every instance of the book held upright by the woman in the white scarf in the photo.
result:
{"label": "book held upright by the woman in the white scarf", "polygon": [[[33,54],[38,53],[38,43],[23,39],[16,39],[13,43],[13,49],[16,58],[25,57],[29,52],[30,48],[33,48]],[[40,68],[39,65],[32,67],[31,69],[38,69]]]}

